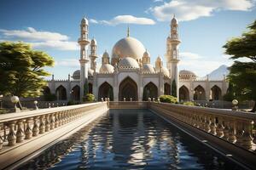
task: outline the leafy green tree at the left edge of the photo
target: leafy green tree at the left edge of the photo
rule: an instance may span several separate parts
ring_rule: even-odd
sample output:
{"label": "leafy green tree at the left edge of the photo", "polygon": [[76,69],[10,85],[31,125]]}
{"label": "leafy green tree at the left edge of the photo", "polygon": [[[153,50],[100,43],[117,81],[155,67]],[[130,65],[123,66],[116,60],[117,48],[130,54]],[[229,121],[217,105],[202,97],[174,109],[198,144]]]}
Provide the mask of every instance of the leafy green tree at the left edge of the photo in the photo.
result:
{"label": "leafy green tree at the left edge of the photo", "polygon": [[42,51],[33,50],[24,42],[0,42],[0,92],[3,95],[38,97],[46,85],[45,66],[54,59]]}

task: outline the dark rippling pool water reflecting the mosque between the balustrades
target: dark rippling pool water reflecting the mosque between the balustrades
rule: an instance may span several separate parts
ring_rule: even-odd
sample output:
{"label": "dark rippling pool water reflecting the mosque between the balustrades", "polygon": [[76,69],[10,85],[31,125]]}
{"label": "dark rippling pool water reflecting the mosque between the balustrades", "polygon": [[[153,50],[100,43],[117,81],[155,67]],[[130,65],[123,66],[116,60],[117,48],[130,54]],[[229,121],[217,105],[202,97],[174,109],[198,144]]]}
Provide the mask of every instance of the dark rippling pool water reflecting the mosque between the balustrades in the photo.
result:
{"label": "dark rippling pool water reflecting the mosque between the balustrades", "polygon": [[110,110],[20,169],[242,169],[148,110]]}

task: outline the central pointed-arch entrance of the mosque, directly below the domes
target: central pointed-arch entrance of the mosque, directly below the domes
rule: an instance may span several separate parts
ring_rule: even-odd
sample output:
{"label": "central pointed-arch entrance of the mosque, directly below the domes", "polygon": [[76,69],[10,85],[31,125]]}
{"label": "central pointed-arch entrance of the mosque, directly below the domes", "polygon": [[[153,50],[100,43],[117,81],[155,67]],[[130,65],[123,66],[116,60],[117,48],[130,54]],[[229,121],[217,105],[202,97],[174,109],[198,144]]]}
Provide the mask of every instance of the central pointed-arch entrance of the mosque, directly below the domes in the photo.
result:
{"label": "central pointed-arch entrance of the mosque, directly below the domes", "polygon": [[130,77],[125,78],[119,85],[119,101],[137,101],[137,83]]}

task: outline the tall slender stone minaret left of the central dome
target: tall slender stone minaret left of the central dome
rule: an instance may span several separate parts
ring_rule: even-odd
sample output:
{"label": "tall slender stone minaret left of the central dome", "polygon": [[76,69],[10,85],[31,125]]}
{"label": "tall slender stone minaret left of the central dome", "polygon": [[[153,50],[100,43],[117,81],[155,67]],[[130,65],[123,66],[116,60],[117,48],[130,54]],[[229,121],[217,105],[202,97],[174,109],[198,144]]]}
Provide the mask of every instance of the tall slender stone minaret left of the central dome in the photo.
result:
{"label": "tall slender stone minaret left of the central dome", "polygon": [[[84,97],[84,84],[87,83],[88,79],[88,56],[87,56],[87,50],[88,50],[88,44],[90,43],[88,39],[88,20],[84,17],[81,20],[80,24],[80,38],[79,38],[79,45],[80,45],[80,100],[82,101]],[[88,86],[88,85],[87,85]]]}

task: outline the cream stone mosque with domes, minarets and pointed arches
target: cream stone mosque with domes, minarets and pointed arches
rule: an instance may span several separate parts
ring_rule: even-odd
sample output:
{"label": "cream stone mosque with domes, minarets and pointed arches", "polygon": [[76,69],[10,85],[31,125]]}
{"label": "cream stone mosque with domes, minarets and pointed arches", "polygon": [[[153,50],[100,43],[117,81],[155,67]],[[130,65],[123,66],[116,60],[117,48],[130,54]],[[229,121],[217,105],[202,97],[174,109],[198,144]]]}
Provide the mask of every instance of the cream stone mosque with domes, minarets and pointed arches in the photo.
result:
{"label": "cream stone mosque with domes, minarets and pointed arches", "polygon": [[[82,100],[84,84],[88,84],[90,94],[97,100],[109,98],[113,101],[143,101],[157,99],[162,94],[177,95],[180,101],[221,100],[227,91],[225,80],[198,79],[192,71],[179,71],[177,66],[178,23],[175,17],[171,21],[171,30],[166,38],[166,65],[158,56],[151,64],[150,54],[143,43],[130,36],[116,42],[111,56],[107,51],[102,55],[102,65],[96,71],[96,39],[89,39],[89,22],[86,18],[80,24],[80,70],[68,75],[67,80],[48,81],[44,93],[55,94],[58,100]],[[88,54],[90,48],[90,54]]]}

